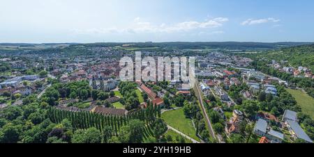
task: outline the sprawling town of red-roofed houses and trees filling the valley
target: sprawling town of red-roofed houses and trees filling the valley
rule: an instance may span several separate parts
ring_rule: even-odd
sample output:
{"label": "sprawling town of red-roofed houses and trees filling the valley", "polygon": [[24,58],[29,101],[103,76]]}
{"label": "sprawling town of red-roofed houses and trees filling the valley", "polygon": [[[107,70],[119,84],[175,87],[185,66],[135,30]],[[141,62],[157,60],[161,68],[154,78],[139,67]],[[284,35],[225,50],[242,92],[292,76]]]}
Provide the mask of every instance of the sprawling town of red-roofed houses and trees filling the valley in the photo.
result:
{"label": "sprawling town of red-roofed houses and trees filling the valley", "polygon": [[[134,44],[55,47],[1,53],[1,131],[13,125],[8,120],[20,116],[34,125],[31,129],[43,123],[53,126],[44,139],[34,138],[30,130],[17,133],[15,139],[3,136],[2,142],[313,142],[313,115],[304,113],[287,92],[306,91],[263,73],[254,66],[254,58],[243,53],[154,51]],[[138,50],[153,58],[195,57],[195,82],[121,81],[119,60],[135,58]],[[285,65],[267,63],[291,77],[313,79],[311,69]],[[127,134],[129,125],[140,128],[138,137]],[[88,131],[96,137],[82,140]],[[121,138],[124,134],[128,138]]]}

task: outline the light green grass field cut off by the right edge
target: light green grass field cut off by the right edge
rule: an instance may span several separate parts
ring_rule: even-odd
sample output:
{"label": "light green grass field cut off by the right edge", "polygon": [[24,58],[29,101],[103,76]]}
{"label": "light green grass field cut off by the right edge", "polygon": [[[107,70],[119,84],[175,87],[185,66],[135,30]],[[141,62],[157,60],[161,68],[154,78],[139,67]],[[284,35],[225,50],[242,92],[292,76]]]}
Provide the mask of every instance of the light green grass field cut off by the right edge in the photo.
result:
{"label": "light green grass field cut off by the right edge", "polygon": [[314,119],[314,99],[301,90],[286,89],[297,100],[297,104],[301,106],[302,112]]}

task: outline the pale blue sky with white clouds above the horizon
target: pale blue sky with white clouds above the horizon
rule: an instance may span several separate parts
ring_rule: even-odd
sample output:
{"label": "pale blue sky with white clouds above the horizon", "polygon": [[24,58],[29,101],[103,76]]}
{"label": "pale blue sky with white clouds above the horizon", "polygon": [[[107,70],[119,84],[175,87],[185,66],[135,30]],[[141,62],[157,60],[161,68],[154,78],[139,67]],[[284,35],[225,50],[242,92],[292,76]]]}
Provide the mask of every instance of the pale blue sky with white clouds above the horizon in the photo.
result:
{"label": "pale blue sky with white clouds above the horizon", "polygon": [[0,0],[0,42],[313,42],[312,0]]}

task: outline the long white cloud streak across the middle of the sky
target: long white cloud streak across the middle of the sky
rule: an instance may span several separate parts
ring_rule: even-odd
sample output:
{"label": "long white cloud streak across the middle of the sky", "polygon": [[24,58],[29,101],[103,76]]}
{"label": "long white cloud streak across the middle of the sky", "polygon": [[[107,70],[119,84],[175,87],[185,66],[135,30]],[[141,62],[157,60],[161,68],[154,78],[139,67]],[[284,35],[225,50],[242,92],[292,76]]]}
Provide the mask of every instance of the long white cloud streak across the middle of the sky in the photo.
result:
{"label": "long white cloud streak across the middle of the sky", "polygon": [[204,22],[187,21],[179,22],[177,24],[151,24],[144,22],[140,17],[133,19],[133,22],[124,28],[92,28],[87,30],[73,30],[78,34],[91,34],[91,33],[174,33],[182,31],[192,31],[195,29],[216,28],[223,26],[229,19],[225,17],[218,17],[209,19]]}

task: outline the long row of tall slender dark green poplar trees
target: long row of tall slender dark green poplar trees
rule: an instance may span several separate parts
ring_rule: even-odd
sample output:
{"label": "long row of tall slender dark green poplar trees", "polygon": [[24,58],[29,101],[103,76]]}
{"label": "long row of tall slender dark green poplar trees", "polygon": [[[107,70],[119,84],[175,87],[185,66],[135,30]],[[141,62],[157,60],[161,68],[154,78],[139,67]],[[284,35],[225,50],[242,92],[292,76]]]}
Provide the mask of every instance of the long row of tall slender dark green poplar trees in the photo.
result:
{"label": "long row of tall slender dark green poplar trees", "polygon": [[118,133],[121,126],[127,125],[132,119],[140,119],[140,121],[149,125],[154,122],[157,117],[160,117],[160,107],[154,107],[153,105],[145,109],[134,110],[125,116],[101,115],[87,111],[73,112],[54,107],[47,110],[47,118],[56,124],[62,122],[63,119],[69,119],[74,129],[89,129],[95,127],[103,131],[105,126],[110,126],[115,133]]}

